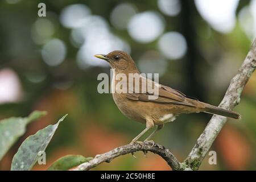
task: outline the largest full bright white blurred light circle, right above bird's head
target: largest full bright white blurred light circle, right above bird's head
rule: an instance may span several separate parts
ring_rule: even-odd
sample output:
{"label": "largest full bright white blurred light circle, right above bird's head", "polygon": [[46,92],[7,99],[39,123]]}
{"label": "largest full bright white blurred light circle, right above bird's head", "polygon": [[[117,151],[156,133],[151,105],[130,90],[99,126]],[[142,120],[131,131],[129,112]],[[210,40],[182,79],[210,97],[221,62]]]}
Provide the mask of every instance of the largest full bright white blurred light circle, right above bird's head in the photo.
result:
{"label": "largest full bright white blurred light circle, right above bird's head", "polygon": [[131,38],[141,43],[152,42],[162,34],[163,30],[163,18],[153,11],[134,15],[128,25]]}

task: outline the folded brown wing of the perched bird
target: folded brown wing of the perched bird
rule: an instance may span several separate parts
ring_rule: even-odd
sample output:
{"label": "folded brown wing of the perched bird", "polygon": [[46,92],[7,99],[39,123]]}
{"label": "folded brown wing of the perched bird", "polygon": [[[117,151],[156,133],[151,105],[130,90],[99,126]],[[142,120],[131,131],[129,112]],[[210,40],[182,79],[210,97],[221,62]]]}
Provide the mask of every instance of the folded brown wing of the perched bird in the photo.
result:
{"label": "folded brown wing of the perched bird", "polygon": [[[148,81],[149,79],[146,79]],[[145,81],[142,79],[141,83]],[[149,80],[151,81],[151,80]],[[178,105],[187,105],[187,106],[195,106],[193,102],[189,102],[185,94],[179,92],[178,90],[172,89],[168,86],[164,86],[161,84],[157,84],[154,81],[154,86],[158,87],[158,96],[154,96],[154,93],[148,92],[133,92],[130,90],[129,93],[126,94],[126,98],[134,101],[144,101],[144,102],[156,102],[159,104],[178,104]]]}

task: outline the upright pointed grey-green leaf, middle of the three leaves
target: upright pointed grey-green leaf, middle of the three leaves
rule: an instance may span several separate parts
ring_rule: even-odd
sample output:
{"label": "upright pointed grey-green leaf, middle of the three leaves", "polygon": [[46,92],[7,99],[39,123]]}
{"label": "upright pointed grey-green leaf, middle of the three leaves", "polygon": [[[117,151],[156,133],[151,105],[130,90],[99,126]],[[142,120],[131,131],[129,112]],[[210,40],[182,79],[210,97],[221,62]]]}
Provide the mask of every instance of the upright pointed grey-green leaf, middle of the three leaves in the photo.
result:
{"label": "upright pointed grey-green leaf, middle of the three leaves", "polygon": [[48,125],[34,135],[26,138],[13,157],[11,171],[30,170],[39,158],[38,152],[45,151],[59,123],[67,116],[64,115],[55,125]]}

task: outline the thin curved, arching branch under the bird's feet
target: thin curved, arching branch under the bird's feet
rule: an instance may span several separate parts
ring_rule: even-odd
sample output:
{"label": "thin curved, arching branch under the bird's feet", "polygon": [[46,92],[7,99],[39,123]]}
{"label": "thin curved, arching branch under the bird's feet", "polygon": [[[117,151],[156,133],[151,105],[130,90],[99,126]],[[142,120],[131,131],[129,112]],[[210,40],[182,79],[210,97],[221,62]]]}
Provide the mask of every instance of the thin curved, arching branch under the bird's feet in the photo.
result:
{"label": "thin curved, arching branch under the bird's feet", "polygon": [[174,169],[174,170],[180,170],[181,166],[178,160],[175,158],[175,156],[164,146],[161,146],[156,143],[152,143],[150,141],[143,142],[141,143],[134,143],[134,144],[127,144],[125,146],[117,147],[112,151],[106,152],[101,155],[96,155],[95,158],[90,160],[89,162],[81,164],[79,167],[75,168],[75,170],[89,170],[93,167],[98,166],[98,164],[103,163],[103,162],[108,162],[110,163],[111,160],[114,158],[117,158],[120,155],[125,155],[125,154],[133,154],[134,152],[137,151],[143,151],[144,154],[146,155],[147,151],[153,152],[154,154],[160,155],[168,165]]}

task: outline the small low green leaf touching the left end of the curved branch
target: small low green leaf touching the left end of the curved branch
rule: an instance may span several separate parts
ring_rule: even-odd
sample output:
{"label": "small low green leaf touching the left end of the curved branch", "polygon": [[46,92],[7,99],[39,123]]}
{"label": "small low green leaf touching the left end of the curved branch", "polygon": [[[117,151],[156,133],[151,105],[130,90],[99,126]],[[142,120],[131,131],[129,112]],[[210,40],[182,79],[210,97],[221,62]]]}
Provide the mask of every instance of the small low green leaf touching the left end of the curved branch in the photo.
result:
{"label": "small low green leaf touching the left end of the curved branch", "polygon": [[66,155],[57,159],[49,168],[48,171],[65,171],[79,164],[89,162],[92,158],[85,158],[82,155]]}

